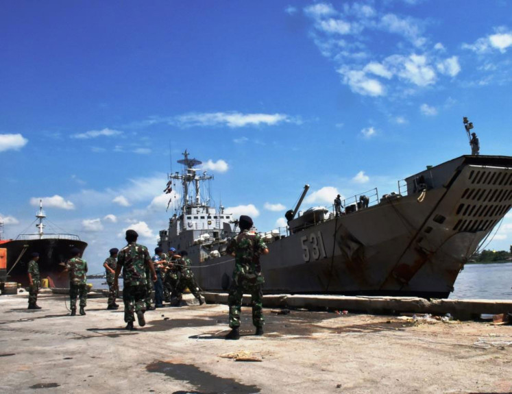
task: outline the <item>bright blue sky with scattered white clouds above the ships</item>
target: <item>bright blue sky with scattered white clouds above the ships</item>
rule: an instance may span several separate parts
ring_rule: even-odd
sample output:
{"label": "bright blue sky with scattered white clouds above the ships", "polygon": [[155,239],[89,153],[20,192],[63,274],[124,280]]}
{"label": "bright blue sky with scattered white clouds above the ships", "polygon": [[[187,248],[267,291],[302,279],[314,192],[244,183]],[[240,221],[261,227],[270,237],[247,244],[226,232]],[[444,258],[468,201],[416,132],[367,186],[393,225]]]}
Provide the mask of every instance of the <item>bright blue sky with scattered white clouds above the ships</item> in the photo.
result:
{"label": "bright blue sky with scattered white clouds above the ships", "polygon": [[4,238],[43,198],[91,271],[128,227],[156,246],[184,149],[260,230],[306,183],[330,205],[470,153],[463,116],[512,152],[509,1],[10,1],[0,35]]}

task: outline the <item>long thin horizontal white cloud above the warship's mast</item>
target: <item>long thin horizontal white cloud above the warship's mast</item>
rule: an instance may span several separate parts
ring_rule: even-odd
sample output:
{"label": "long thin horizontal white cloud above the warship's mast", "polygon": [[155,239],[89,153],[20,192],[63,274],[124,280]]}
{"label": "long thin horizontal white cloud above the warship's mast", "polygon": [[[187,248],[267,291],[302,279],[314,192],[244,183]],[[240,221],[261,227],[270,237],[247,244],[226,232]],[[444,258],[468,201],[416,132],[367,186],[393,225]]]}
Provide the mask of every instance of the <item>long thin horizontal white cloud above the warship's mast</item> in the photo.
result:
{"label": "long thin horizontal white cloud above the warship's mast", "polygon": [[225,125],[245,127],[258,125],[277,125],[279,123],[300,123],[287,114],[241,114],[240,112],[190,113],[177,116],[176,121],[182,127]]}

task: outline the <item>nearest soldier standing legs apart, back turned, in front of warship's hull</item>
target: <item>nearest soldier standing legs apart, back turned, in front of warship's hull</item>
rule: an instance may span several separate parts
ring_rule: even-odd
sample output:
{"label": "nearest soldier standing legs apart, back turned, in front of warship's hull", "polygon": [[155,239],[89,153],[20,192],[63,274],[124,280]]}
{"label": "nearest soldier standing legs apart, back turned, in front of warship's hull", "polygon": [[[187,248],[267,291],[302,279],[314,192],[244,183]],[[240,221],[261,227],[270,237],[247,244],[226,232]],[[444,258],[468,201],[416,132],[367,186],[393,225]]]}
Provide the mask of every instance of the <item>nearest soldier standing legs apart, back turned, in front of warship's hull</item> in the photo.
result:
{"label": "nearest soldier standing legs apart, back turned, in front of warship's hull", "polygon": [[258,234],[250,233],[252,219],[242,215],[239,219],[240,233],[228,245],[228,254],[235,258],[233,282],[228,296],[230,307],[231,332],[226,339],[239,339],[240,311],[243,293],[251,295],[252,323],[256,326],[256,335],[263,335],[263,291],[265,278],[261,273],[259,256],[269,253],[267,245]]}

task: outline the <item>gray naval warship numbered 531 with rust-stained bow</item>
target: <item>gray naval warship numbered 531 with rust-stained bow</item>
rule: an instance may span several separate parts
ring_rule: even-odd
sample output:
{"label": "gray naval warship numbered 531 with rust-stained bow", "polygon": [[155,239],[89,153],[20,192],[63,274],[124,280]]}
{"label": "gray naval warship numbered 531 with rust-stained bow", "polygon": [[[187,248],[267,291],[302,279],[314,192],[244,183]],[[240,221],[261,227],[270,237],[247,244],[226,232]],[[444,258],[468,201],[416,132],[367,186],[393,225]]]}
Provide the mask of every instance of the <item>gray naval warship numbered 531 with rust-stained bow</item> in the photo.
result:
{"label": "gray naval warship numbered 531 with rust-stained bow", "polygon": [[[168,175],[168,188],[182,188],[181,204],[158,245],[186,249],[197,284],[225,291],[234,267],[225,249],[236,218],[202,197],[212,176],[183,155],[183,171]],[[512,206],[512,157],[461,156],[428,166],[399,181],[398,193],[379,197],[374,189],[345,199],[341,214],[325,207],[300,212],[307,189],[287,212],[286,228],[260,233],[270,251],[260,257],[264,293],[446,298]]]}

